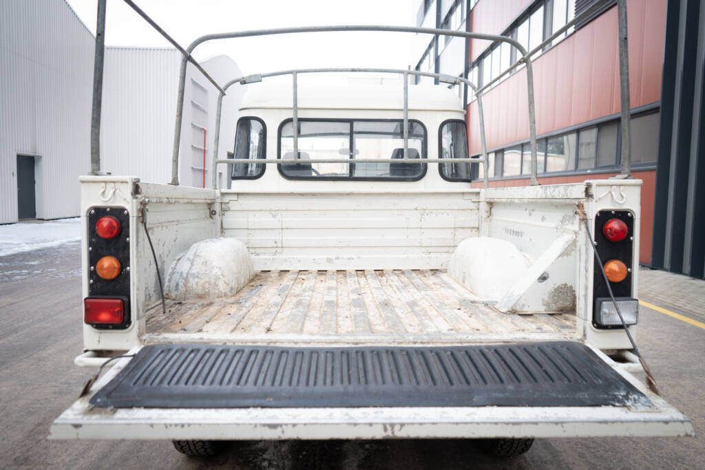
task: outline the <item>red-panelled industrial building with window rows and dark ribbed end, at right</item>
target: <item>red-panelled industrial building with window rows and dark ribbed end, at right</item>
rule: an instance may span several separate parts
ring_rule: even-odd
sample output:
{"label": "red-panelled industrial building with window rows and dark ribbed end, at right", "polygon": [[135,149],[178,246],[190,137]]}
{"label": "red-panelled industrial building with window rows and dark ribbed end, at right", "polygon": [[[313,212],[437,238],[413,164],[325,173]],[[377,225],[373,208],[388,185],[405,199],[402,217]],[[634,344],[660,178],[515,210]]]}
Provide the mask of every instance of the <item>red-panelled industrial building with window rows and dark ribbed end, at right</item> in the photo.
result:
{"label": "red-panelled industrial building with window rows and dark ribbed end, at right", "polygon": [[[537,47],[595,0],[419,0],[417,25],[505,35]],[[541,49],[534,61],[539,184],[620,172],[616,1]],[[632,176],[642,186],[639,261],[703,278],[705,266],[705,5],[627,0]],[[489,83],[516,60],[506,43],[417,35],[416,70]],[[426,79],[429,80],[429,79]],[[420,81],[420,80],[419,80]],[[481,152],[477,100],[467,104],[472,156]],[[489,184],[529,184],[526,70],[483,95]],[[474,174],[482,168],[474,165]],[[481,182],[472,183],[475,187]]]}

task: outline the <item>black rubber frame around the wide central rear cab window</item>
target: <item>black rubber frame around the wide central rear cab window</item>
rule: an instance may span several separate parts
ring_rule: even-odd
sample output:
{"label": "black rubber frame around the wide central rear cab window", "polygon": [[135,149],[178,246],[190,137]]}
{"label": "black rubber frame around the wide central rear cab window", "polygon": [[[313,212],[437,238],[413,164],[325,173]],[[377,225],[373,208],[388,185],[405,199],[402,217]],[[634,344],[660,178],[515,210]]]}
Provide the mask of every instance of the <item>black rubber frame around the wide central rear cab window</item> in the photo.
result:
{"label": "black rubber frame around the wide central rear cab window", "polygon": [[[353,132],[353,123],[357,122],[373,122],[373,123],[403,123],[402,119],[371,119],[371,118],[298,118],[298,122],[318,122],[318,123],[350,123],[350,144],[349,148],[353,149],[353,139],[354,139],[354,132]],[[428,144],[429,144],[429,132],[420,120],[416,119],[410,119],[410,123],[417,123],[421,126],[422,130],[424,131],[424,138],[421,142],[421,154],[419,155],[419,160],[424,160],[427,159],[428,155]],[[276,137],[276,159],[281,160],[281,131],[284,128],[284,125],[287,123],[292,123],[293,124],[293,118],[287,118],[279,124],[278,130],[277,130],[277,137]],[[293,127],[293,125],[292,125]],[[292,132],[298,132],[298,129],[293,129]],[[301,151],[301,149],[298,149],[298,151]],[[284,178],[285,180],[298,180],[298,181],[419,181],[426,176],[426,173],[428,171],[428,163],[419,163],[422,166],[422,171],[418,176],[408,178],[408,177],[391,177],[391,176],[381,176],[381,177],[375,177],[375,178],[370,178],[367,176],[346,176],[346,177],[341,177],[341,176],[292,176],[292,175],[287,175],[286,173],[283,172],[281,168],[281,163],[276,164],[276,168],[279,172],[279,174]],[[355,159],[350,159],[350,168],[353,168],[355,166]],[[311,161],[311,163],[315,163],[314,160]]]}

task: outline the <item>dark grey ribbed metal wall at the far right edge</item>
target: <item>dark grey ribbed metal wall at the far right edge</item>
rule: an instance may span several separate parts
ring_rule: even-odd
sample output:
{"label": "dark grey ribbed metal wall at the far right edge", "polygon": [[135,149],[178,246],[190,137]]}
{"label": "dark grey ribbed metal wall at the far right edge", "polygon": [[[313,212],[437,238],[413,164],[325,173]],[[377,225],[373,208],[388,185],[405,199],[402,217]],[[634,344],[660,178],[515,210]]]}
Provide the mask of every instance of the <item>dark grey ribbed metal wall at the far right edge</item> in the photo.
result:
{"label": "dark grey ribbed metal wall at the far right edge", "polygon": [[651,264],[704,278],[705,4],[668,0]]}

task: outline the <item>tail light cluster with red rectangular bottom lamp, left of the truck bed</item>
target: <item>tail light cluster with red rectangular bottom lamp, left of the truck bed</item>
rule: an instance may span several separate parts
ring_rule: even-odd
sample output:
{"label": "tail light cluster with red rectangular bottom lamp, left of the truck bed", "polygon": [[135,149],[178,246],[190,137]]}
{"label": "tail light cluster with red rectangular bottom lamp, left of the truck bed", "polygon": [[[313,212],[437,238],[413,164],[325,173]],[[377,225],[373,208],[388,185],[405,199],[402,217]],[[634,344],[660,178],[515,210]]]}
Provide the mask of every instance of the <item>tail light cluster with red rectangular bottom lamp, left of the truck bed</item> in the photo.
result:
{"label": "tail light cluster with red rectangular bottom lamp, left of the truck bed", "polygon": [[88,297],[83,321],[102,330],[130,326],[130,215],[123,207],[88,211]]}

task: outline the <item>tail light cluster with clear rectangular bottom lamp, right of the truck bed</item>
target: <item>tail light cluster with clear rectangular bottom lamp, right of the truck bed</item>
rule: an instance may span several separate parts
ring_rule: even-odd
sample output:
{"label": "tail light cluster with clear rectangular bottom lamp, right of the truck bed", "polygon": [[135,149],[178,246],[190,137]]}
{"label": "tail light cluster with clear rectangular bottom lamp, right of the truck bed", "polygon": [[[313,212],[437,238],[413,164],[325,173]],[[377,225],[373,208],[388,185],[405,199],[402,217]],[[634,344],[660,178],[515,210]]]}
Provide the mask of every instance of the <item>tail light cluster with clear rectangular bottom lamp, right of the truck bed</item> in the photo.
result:
{"label": "tail light cluster with clear rectangular bottom lamp, right of the truck bed", "polygon": [[[627,325],[637,323],[639,302],[632,297],[634,266],[634,216],[630,211],[600,211],[595,216],[595,243],[605,274]],[[610,297],[600,266],[594,268],[594,314],[596,328],[623,328]]]}

